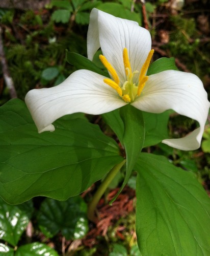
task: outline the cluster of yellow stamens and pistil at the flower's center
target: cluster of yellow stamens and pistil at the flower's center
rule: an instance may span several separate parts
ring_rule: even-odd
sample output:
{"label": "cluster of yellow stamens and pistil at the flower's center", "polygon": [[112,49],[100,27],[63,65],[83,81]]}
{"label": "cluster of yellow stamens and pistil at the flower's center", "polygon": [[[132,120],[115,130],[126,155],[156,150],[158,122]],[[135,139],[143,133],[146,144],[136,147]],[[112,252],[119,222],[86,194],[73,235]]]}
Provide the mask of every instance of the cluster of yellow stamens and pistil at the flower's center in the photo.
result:
{"label": "cluster of yellow stamens and pistil at the flower's center", "polygon": [[[148,80],[146,72],[149,67],[149,63],[153,53],[154,50],[151,50],[149,52],[140,72],[138,70],[132,72],[127,48],[123,49],[123,63],[127,79],[123,84],[120,83],[120,79],[116,70],[112,67],[111,63],[107,60],[107,58],[103,55],[99,55],[100,61],[102,62],[103,66],[109,71],[112,77],[112,79],[105,78],[103,79],[103,81],[107,83],[108,86],[112,87],[125,102],[133,102],[136,97],[140,96],[142,90],[144,89],[145,83]],[[136,83],[133,82],[133,79],[134,75],[137,73],[140,74],[138,84],[136,85]]]}

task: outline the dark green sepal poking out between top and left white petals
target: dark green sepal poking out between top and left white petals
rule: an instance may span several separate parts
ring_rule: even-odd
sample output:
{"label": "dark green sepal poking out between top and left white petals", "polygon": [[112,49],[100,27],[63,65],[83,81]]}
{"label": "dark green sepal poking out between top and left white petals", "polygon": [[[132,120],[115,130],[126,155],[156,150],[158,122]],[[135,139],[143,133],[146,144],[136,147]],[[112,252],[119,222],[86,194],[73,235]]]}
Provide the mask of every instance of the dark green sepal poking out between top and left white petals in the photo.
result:
{"label": "dark green sepal poking out between top and left white petals", "polygon": [[109,76],[107,72],[104,72],[101,69],[99,69],[91,60],[78,53],[67,52],[66,60],[76,69],[87,69],[104,76]]}

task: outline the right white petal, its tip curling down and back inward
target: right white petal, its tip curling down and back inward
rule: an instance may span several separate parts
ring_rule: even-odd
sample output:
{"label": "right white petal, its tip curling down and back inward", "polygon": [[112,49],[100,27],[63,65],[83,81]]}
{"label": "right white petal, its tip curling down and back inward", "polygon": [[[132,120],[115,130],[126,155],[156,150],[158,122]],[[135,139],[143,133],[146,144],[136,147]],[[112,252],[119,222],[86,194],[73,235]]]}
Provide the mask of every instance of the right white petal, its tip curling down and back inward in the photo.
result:
{"label": "right white petal, its tip curling down and back inward", "polygon": [[197,120],[200,127],[185,138],[162,142],[180,150],[195,150],[200,146],[210,104],[196,75],[174,70],[150,75],[142,94],[132,105],[150,113],[172,109]]}

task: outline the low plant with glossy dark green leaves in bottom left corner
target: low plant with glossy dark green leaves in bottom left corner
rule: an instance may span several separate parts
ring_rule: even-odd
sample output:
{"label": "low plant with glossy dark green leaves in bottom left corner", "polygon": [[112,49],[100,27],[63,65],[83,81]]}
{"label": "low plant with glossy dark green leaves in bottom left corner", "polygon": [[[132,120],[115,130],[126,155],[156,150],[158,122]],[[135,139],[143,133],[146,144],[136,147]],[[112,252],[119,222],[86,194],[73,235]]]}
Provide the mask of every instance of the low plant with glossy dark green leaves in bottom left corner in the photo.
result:
{"label": "low plant with glossy dark green leaves in bottom left corner", "polygon": [[[0,199],[1,255],[20,256],[29,253],[30,255],[59,255],[58,252],[42,242],[28,242],[32,238],[24,238],[25,234],[23,236],[23,233],[34,216],[34,212],[32,200],[15,206]],[[34,222],[37,222],[45,240],[56,236],[60,230],[68,240],[81,239],[88,231],[86,212],[87,205],[81,197],[70,198],[62,202],[46,198],[41,203]],[[33,227],[31,228],[33,229]],[[20,242],[21,245],[19,245]]]}

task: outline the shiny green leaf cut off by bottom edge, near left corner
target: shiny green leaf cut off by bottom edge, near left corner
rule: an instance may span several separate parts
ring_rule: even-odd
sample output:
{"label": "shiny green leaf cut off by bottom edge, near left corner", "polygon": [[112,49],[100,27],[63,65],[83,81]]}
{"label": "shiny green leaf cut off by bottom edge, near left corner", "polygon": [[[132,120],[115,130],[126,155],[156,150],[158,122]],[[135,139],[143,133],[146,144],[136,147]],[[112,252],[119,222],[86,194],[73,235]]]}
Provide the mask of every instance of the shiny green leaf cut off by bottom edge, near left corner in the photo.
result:
{"label": "shiny green leaf cut off by bottom edge, near left corner", "polygon": [[51,247],[46,244],[42,244],[39,242],[22,245],[17,248],[15,256],[59,256],[58,252],[56,252]]}

